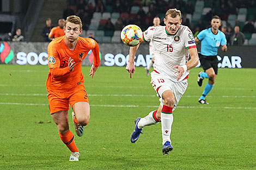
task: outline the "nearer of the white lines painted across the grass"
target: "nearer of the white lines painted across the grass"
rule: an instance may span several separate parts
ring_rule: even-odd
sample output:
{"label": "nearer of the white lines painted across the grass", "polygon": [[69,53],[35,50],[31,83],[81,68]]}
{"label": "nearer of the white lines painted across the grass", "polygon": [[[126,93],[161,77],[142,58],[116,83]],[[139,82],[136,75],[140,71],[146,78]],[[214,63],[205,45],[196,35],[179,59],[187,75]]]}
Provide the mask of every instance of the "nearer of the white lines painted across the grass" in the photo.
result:
{"label": "nearer of the white lines painted across the grass", "polygon": [[[44,103],[0,103],[0,105],[41,105],[41,106],[46,106],[48,104]],[[158,108],[159,105],[154,106],[154,105],[104,105],[104,104],[90,104],[90,106],[95,106],[95,107],[112,107],[112,108]],[[217,108],[217,107],[204,107],[204,106],[177,106],[177,108],[187,108],[187,109],[256,109],[252,107],[222,107],[222,108]]]}

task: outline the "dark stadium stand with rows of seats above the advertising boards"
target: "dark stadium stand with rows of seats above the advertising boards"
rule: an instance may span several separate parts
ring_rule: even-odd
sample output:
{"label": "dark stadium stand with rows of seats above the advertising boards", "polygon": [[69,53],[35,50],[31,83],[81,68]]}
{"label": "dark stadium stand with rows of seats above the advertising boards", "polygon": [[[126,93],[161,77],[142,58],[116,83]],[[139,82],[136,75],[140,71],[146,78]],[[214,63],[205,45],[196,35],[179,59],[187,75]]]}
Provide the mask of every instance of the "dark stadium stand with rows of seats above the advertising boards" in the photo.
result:
{"label": "dark stadium stand with rows of seats above the advertising boards", "polygon": [[[77,15],[83,22],[81,36],[87,37],[89,33],[93,33],[98,42],[120,42],[120,29],[127,24],[137,24],[144,31],[153,24],[154,16],[159,16],[163,25],[165,11],[177,8],[182,14],[186,13],[182,15],[187,18],[184,24],[187,24],[193,32],[196,32],[198,27],[200,30],[209,28],[211,17],[218,15],[222,18],[222,27],[232,30],[228,32],[227,37],[233,34],[234,26],[237,25],[245,34],[245,45],[256,45],[253,34],[256,32],[256,0],[132,0],[129,2],[124,0],[42,0],[40,3],[36,0],[17,0],[10,2],[13,1],[3,1],[0,9],[0,15],[8,15],[8,17],[0,17],[0,23],[14,17],[14,20],[10,21],[11,27],[8,27],[10,29],[5,35],[0,36],[2,40],[11,40],[14,30],[21,28],[26,41],[42,41],[40,33],[46,18],[50,17],[53,25],[57,26],[59,18]],[[8,8],[8,4],[13,7]],[[113,30],[105,30],[108,18],[115,26]]]}

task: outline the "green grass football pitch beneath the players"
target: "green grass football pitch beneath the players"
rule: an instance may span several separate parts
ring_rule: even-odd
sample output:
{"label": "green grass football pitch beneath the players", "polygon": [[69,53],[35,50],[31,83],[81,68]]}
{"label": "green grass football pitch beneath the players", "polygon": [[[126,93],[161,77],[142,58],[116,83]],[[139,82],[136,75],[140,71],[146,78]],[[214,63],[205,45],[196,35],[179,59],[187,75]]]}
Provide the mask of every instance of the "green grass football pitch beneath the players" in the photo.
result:
{"label": "green grass football pitch beneath the players", "polygon": [[1,65],[0,169],[256,169],[255,69],[220,69],[206,97],[209,105],[197,103],[207,83],[197,85],[202,68],[191,70],[173,113],[169,155],[162,155],[160,123],[130,142],[135,119],[159,105],[144,68],[136,68],[132,79],[124,67],[99,67],[94,79],[89,69],[82,67],[90,122],[76,136],[69,110],[81,155],[79,162],[69,162],[48,111],[48,67]]}

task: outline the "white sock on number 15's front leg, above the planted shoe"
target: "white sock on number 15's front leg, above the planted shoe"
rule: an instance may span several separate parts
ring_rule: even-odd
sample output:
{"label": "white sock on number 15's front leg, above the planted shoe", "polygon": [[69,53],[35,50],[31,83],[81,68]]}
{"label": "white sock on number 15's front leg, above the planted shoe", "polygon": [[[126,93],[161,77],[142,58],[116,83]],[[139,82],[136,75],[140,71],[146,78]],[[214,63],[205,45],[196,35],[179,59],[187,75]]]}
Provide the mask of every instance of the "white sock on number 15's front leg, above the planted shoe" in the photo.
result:
{"label": "white sock on number 15's front leg, above the planted shoe", "polygon": [[163,144],[164,144],[166,143],[166,141],[170,141],[170,131],[172,130],[173,114],[163,114],[162,112],[161,124],[162,124],[162,138],[163,138]]}

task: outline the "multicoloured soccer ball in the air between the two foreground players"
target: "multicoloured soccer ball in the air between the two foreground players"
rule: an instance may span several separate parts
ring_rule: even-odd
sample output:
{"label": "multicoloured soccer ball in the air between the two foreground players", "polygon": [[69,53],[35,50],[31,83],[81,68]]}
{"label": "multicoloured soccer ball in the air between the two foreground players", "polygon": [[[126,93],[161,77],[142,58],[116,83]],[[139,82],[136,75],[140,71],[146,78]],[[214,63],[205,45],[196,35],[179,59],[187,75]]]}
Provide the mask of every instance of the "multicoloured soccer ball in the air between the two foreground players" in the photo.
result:
{"label": "multicoloured soccer ball in the air between the two foreground players", "polygon": [[142,30],[136,25],[128,25],[121,31],[121,40],[125,45],[133,47],[137,46],[143,38]]}

